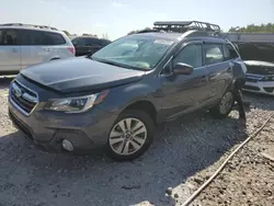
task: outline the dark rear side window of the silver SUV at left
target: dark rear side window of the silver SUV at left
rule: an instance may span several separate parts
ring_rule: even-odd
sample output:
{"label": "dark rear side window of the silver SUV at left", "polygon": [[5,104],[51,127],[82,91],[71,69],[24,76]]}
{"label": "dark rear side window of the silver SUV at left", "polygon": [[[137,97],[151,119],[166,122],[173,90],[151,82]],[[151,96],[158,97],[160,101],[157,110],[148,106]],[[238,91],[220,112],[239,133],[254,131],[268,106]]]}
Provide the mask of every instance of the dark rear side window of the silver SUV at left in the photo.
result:
{"label": "dark rear side window of the silver SUV at left", "polygon": [[22,31],[22,45],[62,45],[61,34],[43,31]]}

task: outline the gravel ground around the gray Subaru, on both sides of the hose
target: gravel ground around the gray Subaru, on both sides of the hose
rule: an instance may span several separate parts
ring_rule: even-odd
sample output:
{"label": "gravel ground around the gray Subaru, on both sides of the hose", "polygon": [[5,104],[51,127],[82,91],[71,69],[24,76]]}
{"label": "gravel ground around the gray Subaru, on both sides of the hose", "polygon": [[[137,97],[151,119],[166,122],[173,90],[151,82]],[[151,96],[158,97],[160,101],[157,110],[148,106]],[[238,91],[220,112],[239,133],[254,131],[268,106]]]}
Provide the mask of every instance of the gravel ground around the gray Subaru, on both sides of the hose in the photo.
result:
{"label": "gravel ground around the gray Subaru, on both sides of the hose", "polygon": [[[251,95],[248,129],[237,129],[237,112],[224,121],[207,113],[159,126],[149,151],[133,162],[103,154],[84,157],[36,149],[8,118],[11,78],[0,79],[0,206],[180,205],[262,124],[273,98]],[[274,205],[274,123],[250,141],[193,205]],[[171,195],[165,194],[171,193]]]}

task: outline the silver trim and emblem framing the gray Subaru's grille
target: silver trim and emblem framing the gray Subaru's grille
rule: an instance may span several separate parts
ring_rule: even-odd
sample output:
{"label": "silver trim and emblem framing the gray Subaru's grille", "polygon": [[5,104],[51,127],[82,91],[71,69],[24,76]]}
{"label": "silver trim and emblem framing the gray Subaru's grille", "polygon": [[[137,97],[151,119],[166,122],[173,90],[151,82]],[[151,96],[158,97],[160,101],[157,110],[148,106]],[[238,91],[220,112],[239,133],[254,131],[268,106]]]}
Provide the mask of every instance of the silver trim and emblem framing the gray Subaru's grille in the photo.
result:
{"label": "silver trim and emblem framing the gray Subaru's grille", "polygon": [[[12,103],[12,105],[13,105],[14,107],[16,107],[16,108],[18,108],[21,113],[23,113],[25,116],[30,116],[30,115],[33,113],[33,111],[34,111],[34,110],[37,107],[37,105],[38,105],[38,93],[35,92],[35,91],[33,91],[33,90],[31,90],[30,88],[23,85],[23,84],[22,84],[21,82],[19,82],[18,80],[13,80],[13,81],[11,82],[11,87],[14,85],[13,82],[20,84],[22,88],[24,88],[24,89],[26,89],[26,90],[33,92],[33,93],[36,95],[36,100],[33,100],[33,98],[32,98],[31,95],[28,95],[28,94],[27,94],[27,95],[24,95],[24,94],[22,95],[22,98],[24,98],[25,100],[27,100],[27,101],[30,101],[30,102],[32,102],[32,103],[36,103],[36,104],[34,105],[34,107],[32,108],[32,111],[31,111],[30,113],[27,113],[26,111],[24,111],[19,104],[16,104],[16,103],[12,100],[12,98],[11,98],[12,91],[10,91],[9,100],[10,100],[10,102]],[[28,100],[27,98],[30,98],[30,99],[32,99],[32,100]],[[35,101],[35,102],[33,102],[33,101]]]}

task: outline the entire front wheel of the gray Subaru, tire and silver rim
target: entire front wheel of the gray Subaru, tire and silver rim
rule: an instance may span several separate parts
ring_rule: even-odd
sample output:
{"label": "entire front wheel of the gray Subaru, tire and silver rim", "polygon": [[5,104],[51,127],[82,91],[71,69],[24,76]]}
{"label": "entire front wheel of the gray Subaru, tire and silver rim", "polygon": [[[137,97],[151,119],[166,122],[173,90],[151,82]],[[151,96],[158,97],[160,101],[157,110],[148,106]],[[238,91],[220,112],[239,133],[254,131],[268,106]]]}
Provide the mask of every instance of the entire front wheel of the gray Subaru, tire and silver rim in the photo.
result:
{"label": "entire front wheel of the gray Subaru, tire and silver rim", "polygon": [[142,111],[123,112],[109,133],[106,154],[117,161],[128,161],[140,157],[153,141],[153,128],[151,117]]}

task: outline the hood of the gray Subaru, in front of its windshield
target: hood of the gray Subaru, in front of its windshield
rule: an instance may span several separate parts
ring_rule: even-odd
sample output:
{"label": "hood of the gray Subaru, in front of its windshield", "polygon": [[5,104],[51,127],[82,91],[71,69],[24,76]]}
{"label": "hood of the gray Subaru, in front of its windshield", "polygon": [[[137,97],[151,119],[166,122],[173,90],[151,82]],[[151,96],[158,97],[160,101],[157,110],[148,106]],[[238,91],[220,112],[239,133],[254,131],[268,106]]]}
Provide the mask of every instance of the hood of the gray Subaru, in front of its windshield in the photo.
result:
{"label": "hood of the gray Subaru, in front of its windshield", "polygon": [[145,71],[116,67],[87,57],[73,57],[35,65],[20,73],[58,92],[84,92],[138,81]]}

